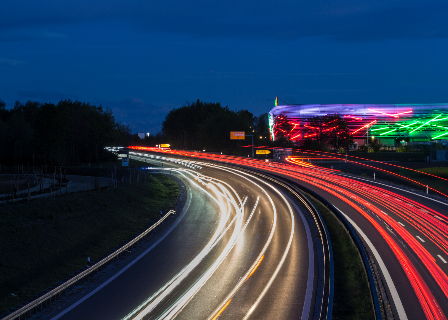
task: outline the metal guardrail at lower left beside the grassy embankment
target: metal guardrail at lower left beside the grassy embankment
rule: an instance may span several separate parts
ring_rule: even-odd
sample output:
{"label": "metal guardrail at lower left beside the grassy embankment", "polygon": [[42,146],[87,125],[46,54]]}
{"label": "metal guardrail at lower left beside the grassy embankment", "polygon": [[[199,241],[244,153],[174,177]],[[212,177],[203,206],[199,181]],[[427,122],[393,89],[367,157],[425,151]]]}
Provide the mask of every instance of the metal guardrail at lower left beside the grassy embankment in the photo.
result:
{"label": "metal guardrail at lower left beside the grassy embankment", "polygon": [[[56,288],[52,289],[51,291],[45,293],[42,297],[39,297],[35,300],[27,301],[25,302],[25,305],[20,308],[13,308],[10,309],[12,311],[10,314],[6,316],[0,316],[0,319],[2,320],[20,320],[21,316],[23,315],[23,319],[26,319],[26,316],[31,317],[32,313],[36,313],[37,311],[42,310],[43,307],[46,307],[47,304],[52,303],[52,301],[56,300],[57,298],[60,298],[61,292],[67,293],[68,288],[72,288],[73,284],[76,283],[78,285],[78,282],[83,283],[84,278],[87,278],[87,280],[90,277],[93,277],[94,273],[98,273],[98,270],[103,270],[103,267],[107,266],[111,263],[111,261],[115,261],[116,259],[120,258],[121,255],[130,247],[134,246],[138,242],[140,242],[147,234],[149,234],[152,230],[157,228],[164,220],[170,215],[175,214],[176,211],[170,210],[168,213],[166,213],[162,218],[160,218],[159,221],[157,221],[154,225],[151,225],[148,229],[146,229],[142,234],[138,235],[134,239],[132,239],[130,242],[122,246],[120,249],[112,252],[110,255],[108,255],[106,258],[101,259],[96,264],[92,265],[90,268],[87,268],[86,270],[82,271],[81,273],[75,275],[73,278],[70,278],[69,280],[65,281],[63,284],[57,286]],[[30,300],[30,299],[29,299]],[[24,303],[22,303],[24,304]],[[6,314],[8,312],[5,312]],[[4,313],[4,314],[5,314]]]}

